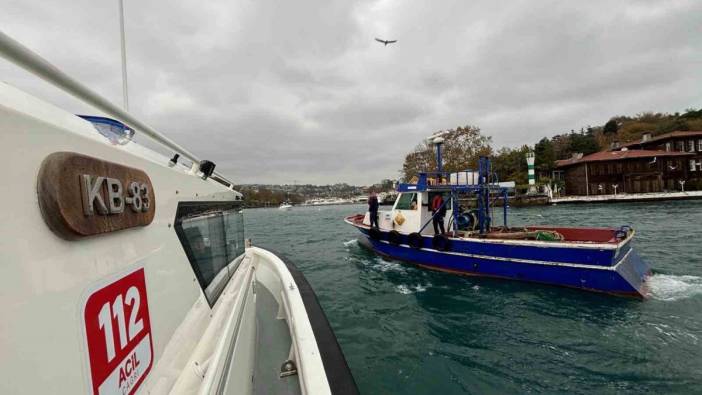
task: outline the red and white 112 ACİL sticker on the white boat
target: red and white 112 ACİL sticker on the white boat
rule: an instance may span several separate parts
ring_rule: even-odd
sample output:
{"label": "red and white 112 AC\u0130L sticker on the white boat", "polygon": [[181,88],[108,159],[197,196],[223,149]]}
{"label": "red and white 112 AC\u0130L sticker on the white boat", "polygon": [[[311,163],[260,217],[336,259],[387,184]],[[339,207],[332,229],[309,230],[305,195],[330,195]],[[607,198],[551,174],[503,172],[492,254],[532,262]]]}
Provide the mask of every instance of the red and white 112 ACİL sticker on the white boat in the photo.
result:
{"label": "red and white 112 AC\u0130L sticker on the white boat", "polygon": [[83,320],[93,394],[133,394],[153,362],[144,269],[93,292]]}

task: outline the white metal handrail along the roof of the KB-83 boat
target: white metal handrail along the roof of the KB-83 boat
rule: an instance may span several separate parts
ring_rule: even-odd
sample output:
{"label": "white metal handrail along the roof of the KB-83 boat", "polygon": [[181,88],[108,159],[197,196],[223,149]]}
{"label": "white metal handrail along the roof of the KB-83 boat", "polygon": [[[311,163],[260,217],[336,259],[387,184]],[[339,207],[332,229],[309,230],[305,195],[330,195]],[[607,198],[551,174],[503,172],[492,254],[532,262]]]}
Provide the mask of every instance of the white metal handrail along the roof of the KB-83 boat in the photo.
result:
{"label": "white metal handrail along the roof of the KB-83 boat", "polygon": [[[117,118],[125,125],[134,130],[138,130],[140,133],[148,136],[166,148],[169,148],[184,156],[192,161],[193,170],[199,170],[200,159],[198,159],[195,154],[181,147],[178,143],[159,133],[147,124],[139,121],[137,118],[112,104],[109,100],[93,92],[85,85],[71,78],[68,74],[59,70],[56,66],[52,65],[47,60],[32,52],[32,50],[20,44],[2,31],[0,31],[0,56],[46,80],[47,82],[50,82],[65,92],[70,93],[76,98],[81,99],[95,108],[105,112],[107,115]],[[217,182],[220,182],[221,184],[230,188],[233,186],[233,183],[226,177],[222,176],[218,172],[215,172],[214,174],[220,178],[220,180],[216,180]]]}

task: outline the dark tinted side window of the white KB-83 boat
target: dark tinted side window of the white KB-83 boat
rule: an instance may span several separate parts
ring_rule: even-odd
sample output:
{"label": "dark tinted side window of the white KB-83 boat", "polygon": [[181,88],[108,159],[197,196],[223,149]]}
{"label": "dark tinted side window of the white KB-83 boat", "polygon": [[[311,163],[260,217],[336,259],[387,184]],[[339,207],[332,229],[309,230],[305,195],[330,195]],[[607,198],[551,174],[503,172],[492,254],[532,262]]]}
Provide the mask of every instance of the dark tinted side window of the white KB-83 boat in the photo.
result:
{"label": "dark tinted side window of the white KB-83 boat", "polygon": [[176,213],[176,234],[210,306],[244,254],[243,214],[231,203],[181,203]]}

